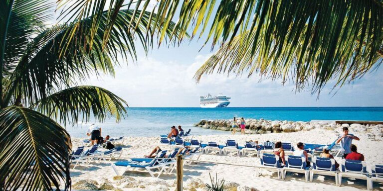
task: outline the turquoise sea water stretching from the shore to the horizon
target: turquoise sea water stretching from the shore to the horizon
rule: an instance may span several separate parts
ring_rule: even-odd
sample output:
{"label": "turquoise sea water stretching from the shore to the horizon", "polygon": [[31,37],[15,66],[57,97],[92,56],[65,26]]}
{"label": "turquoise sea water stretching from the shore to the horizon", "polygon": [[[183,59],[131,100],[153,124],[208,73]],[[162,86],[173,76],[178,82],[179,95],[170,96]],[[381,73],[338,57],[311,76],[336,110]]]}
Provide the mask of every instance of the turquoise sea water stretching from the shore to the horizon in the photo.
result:
{"label": "turquoise sea water stretching from the shore to the horizon", "polygon": [[230,119],[235,117],[267,120],[375,120],[383,121],[383,107],[226,107],[226,108],[127,108],[128,116],[116,123],[115,119],[66,127],[74,137],[84,137],[87,127],[95,122],[102,128],[102,135],[158,136],[170,131],[172,125],[192,128],[193,135],[227,134],[226,131],[205,130],[193,127],[201,119]]}

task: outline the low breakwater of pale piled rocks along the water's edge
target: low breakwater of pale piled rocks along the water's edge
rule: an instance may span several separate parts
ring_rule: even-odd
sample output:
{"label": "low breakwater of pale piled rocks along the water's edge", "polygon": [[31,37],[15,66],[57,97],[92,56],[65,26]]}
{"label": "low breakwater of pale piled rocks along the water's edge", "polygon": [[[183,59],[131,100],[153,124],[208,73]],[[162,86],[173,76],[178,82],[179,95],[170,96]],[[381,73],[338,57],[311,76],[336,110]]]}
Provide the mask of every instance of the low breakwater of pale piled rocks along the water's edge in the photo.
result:
{"label": "low breakwater of pale piled rocks along the water's edge", "polygon": [[[246,119],[247,134],[263,134],[263,133],[280,133],[280,132],[296,132],[309,131],[315,128],[325,128],[334,130],[340,125],[334,123],[318,123],[304,121],[271,121],[264,119]],[[217,120],[201,120],[195,123],[194,126],[204,129],[216,129],[222,131],[231,131],[232,120],[217,119]],[[237,128],[239,130],[239,128]]]}

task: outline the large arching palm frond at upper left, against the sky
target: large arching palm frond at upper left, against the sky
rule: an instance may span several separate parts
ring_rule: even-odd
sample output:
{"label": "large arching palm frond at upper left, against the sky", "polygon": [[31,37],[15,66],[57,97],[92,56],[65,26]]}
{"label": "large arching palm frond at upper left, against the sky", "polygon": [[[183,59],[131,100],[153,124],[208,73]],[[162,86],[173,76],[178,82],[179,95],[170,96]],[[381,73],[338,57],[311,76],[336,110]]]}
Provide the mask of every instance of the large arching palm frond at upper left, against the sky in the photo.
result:
{"label": "large arching palm frond at upper left, against the sky", "polygon": [[[141,13],[140,11],[138,11]],[[93,44],[83,44],[82,40],[90,32],[89,27],[83,28],[76,33],[78,41],[66,41],[66,33],[71,31],[76,23],[65,26],[54,26],[46,29],[38,35],[33,43],[30,43],[28,51],[19,60],[19,63],[10,77],[10,83],[6,88],[5,103],[10,97],[19,97],[22,94],[23,102],[33,103],[40,98],[60,90],[76,85],[78,81],[89,77],[90,74],[107,73],[114,74],[114,65],[120,53],[124,60],[136,58],[136,44],[140,43],[147,51],[153,44],[153,39],[146,35],[147,30],[153,30],[154,25],[147,29],[150,16],[156,18],[150,12],[141,15],[140,23],[133,34],[128,30],[132,10],[120,10],[117,14],[114,26],[109,34],[109,40],[105,47],[103,27],[97,30]],[[105,11],[100,20],[100,25],[105,26],[108,21],[108,12]],[[140,15],[136,15],[133,23],[137,23]],[[83,26],[91,25],[92,18],[81,21]],[[172,23],[174,25],[174,23]],[[172,27],[168,29],[171,35]],[[62,42],[69,44],[64,54],[61,54]],[[138,42],[137,42],[138,41]],[[90,47],[92,47],[90,49]],[[84,50],[85,49],[85,50]]]}

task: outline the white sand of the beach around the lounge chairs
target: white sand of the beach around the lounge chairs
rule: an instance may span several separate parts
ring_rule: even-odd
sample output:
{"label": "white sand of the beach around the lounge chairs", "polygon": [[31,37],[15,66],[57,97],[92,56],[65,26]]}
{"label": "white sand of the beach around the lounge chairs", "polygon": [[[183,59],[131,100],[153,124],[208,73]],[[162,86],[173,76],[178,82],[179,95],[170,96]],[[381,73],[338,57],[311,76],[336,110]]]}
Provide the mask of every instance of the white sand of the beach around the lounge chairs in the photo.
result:
{"label": "white sand of the beach around the lounge chairs", "polygon": [[[194,136],[193,139],[201,140],[202,142],[216,141],[224,144],[227,139],[235,139],[239,145],[243,145],[247,140],[259,140],[260,143],[270,141],[283,141],[291,142],[294,145],[297,142],[315,143],[315,144],[330,144],[341,133],[341,128],[334,130],[314,129],[311,131],[299,131],[294,133],[270,133],[270,134],[256,134],[256,135],[211,135],[211,136]],[[358,151],[365,155],[368,165],[382,164],[383,153],[380,151],[382,142],[377,139],[369,138],[367,134],[361,131],[353,131],[350,128],[350,133],[354,133],[361,138],[361,141],[353,141],[358,146]],[[192,138],[190,136],[187,139]],[[143,157],[149,154],[155,145],[159,145],[159,137],[128,137],[124,143],[124,154],[122,157]],[[79,145],[81,139],[73,139],[74,147]],[[161,146],[162,149],[166,147]],[[218,154],[203,154],[199,160],[229,163],[237,165],[260,165],[259,158],[252,156],[236,156],[230,153],[228,156]],[[340,162],[340,158],[337,158]],[[120,169],[122,170],[122,168]],[[264,172],[260,177],[255,177],[254,174],[257,169],[249,167],[236,167],[230,165],[215,165],[198,163],[193,166],[184,167],[184,186],[188,179],[200,179],[204,183],[209,183],[209,173],[215,177],[217,173],[219,179],[224,179],[227,182],[235,182],[241,186],[253,187],[259,191],[269,190],[310,190],[310,191],[354,191],[366,190],[366,181],[343,179],[342,187],[335,186],[334,177],[314,176],[314,182],[305,182],[303,174],[288,173],[285,180],[279,180],[276,173]],[[80,180],[90,179],[97,181],[100,185],[110,182],[116,190],[123,191],[151,191],[151,190],[175,190],[175,171],[170,175],[161,175],[160,179],[151,178],[149,173],[142,173],[137,171],[126,172],[124,176],[132,177],[135,181],[113,181],[116,176],[110,163],[91,163],[88,167],[80,166],[75,170],[71,170],[72,182],[75,184]],[[133,185],[133,188],[124,188],[126,185]],[[129,187],[129,186],[128,186]],[[118,188],[118,189],[117,189]],[[383,189],[382,184],[374,183],[374,189]],[[197,189],[202,190],[202,189]]]}

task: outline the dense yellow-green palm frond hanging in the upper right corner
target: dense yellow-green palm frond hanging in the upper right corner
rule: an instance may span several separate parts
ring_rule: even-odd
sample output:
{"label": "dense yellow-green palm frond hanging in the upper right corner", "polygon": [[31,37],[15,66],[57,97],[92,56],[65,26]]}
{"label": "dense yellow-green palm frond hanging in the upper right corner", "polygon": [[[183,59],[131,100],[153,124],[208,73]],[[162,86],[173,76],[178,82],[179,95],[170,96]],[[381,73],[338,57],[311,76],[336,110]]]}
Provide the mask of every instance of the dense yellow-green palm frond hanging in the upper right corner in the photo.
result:
{"label": "dense yellow-green palm frond hanging in the upper right corner", "polygon": [[260,2],[253,24],[245,25],[244,32],[201,66],[194,76],[197,81],[214,71],[248,77],[255,73],[283,82],[291,74],[296,90],[312,85],[312,92],[320,93],[330,80],[337,79],[335,86],[342,86],[382,63],[383,6],[379,2]]}

